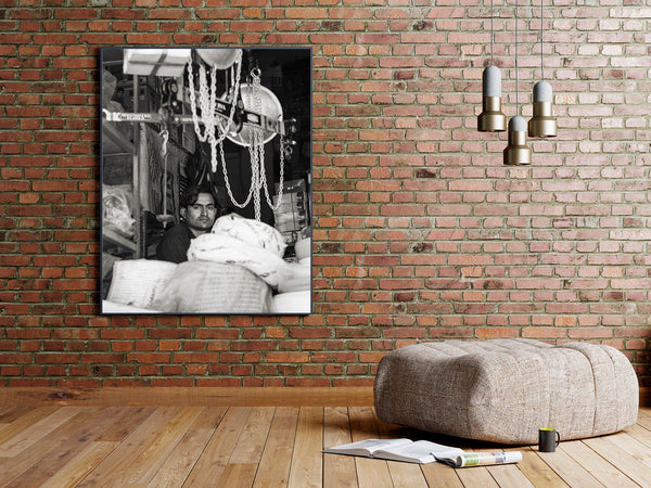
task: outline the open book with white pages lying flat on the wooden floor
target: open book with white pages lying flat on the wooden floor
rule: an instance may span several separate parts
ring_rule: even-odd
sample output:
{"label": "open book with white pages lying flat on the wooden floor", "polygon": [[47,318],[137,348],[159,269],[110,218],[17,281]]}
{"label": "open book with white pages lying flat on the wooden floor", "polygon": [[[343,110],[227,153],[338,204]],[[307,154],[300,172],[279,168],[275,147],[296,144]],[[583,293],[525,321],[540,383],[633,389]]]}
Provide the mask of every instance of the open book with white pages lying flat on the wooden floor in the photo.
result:
{"label": "open book with white pages lying flat on the wooden floor", "polygon": [[458,448],[430,442],[429,440],[410,439],[367,439],[357,442],[345,444],[323,452],[332,454],[362,455],[365,458],[379,458],[391,461],[404,461],[408,463],[432,463],[436,458],[452,458],[463,454]]}

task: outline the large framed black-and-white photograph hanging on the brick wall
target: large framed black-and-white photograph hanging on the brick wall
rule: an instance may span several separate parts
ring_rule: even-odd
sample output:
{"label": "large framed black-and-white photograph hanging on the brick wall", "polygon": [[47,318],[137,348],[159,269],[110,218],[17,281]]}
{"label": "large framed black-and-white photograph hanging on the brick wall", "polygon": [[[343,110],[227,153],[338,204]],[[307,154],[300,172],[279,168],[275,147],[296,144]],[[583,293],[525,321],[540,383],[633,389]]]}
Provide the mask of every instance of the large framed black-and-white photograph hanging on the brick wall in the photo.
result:
{"label": "large framed black-and-white photograph hanging on the brick wall", "polygon": [[102,313],[311,313],[311,49],[101,65]]}

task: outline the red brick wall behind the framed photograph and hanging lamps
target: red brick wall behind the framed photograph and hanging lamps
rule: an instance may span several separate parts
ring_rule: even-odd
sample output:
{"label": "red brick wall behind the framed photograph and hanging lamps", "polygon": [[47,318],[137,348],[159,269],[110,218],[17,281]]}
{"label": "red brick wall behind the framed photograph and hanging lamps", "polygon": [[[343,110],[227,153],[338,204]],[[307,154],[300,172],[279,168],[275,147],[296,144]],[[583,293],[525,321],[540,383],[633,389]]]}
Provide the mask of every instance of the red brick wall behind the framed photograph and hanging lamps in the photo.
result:
{"label": "red brick wall behind the framed photograph and hanging lamps", "polygon": [[[643,0],[546,9],[559,137],[522,168],[475,130],[487,0],[0,3],[1,385],[370,385],[405,344],[520,336],[612,344],[651,384]],[[521,4],[528,117],[539,3]],[[126,44],[312,47],[315,314],[98,316],[98,48]]]}

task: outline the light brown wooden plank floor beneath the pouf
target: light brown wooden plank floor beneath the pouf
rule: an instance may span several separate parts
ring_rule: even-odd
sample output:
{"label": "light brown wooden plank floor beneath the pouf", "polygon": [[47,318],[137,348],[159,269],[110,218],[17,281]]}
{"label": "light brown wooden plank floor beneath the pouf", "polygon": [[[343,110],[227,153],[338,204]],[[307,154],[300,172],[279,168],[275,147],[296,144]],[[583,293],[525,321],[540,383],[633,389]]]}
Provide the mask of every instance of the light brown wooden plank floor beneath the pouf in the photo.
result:
{"label": "light brown wooden plank floor beneath the pouf", "polygon": [[[455,470],[323,454],[376,437],[495,446],[380,422],[372,407],[0,406],[7,487],[651,487],[651,409],[622,433],[520,447],[515,465]],[[509,448],[511,449],[511,448]]]}

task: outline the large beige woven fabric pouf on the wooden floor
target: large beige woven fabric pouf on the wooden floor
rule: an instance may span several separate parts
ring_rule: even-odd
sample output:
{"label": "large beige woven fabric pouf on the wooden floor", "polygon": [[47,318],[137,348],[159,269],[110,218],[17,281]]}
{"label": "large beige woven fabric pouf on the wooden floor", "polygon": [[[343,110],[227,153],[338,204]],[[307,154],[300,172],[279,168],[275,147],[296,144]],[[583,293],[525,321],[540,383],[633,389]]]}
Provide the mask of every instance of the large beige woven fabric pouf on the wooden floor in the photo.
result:
{"label": "large beige woven fabric pouf on the wooden floor", "polygon": [[531,339],[445,341],[406,346],[380,361],[378,416],[421,431],[500,444],[561,440],[637,422],[638,381],[617,349]]}

